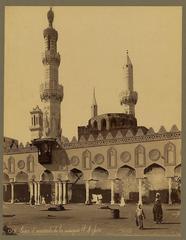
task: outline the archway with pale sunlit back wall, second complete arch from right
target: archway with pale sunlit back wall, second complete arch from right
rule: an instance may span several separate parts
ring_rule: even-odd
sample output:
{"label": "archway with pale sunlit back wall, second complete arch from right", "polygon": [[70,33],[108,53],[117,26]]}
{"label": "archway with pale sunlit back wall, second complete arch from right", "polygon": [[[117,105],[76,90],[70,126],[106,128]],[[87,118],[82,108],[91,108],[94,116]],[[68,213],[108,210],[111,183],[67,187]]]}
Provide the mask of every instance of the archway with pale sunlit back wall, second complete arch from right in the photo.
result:
{"label": "archway with pale sunlit back wall, second complete arch from right", "polygon": [[120,167],[117,171],[117,179],[118,181],[115,181],[115,195],[120,199],[123,196],[125,201],[137,202],[139,193],[135,169],[127,165]]}

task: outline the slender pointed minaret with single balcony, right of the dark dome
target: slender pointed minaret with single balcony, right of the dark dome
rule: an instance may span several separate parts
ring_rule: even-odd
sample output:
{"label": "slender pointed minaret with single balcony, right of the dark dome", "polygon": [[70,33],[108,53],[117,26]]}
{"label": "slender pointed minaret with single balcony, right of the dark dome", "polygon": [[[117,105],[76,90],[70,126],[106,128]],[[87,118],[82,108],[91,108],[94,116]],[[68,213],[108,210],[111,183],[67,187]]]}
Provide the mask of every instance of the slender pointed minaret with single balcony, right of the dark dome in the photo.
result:
{"label": "slender pointed minaret with single balcony, right of the dark dome", "polygon": [[138,94],[133,90],[133,66],[126,52],[126,58],[123,65],[124,90],[120,94],[120,103],[124,107],[124,113],[135,116],[135,105],[138,100]]}

